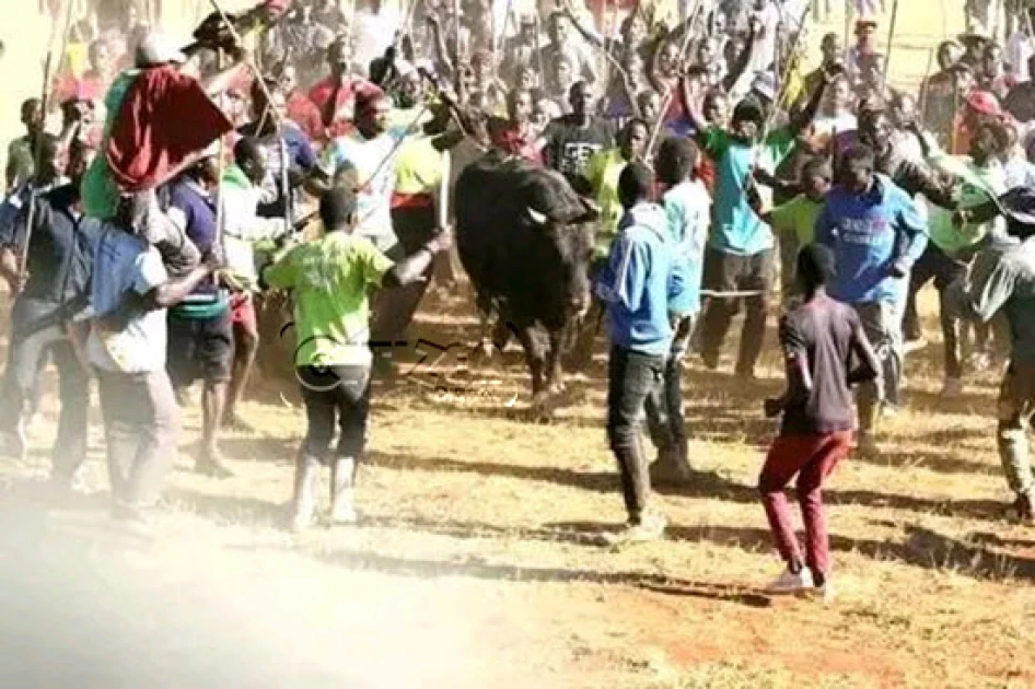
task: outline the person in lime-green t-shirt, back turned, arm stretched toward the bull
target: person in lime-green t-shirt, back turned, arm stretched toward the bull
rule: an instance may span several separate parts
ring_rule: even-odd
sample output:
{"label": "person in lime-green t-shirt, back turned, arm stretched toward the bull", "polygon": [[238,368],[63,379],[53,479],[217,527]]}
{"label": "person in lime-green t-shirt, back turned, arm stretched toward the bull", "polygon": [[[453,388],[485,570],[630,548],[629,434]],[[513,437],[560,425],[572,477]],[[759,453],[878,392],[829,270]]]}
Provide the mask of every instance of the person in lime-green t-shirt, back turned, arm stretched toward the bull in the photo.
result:
{"label": "person in lime-green t-shirt, back turned, arm stretched toward the bull", "polygon": [[[357,521],[356,469],[363,453],[370,411],[371,288],[397,288],[422,279],[450,235],[393,264],[356,227],[356,194],[334,187],[319,200],[325,235],[290,249],[261,271],[266,284],[291,290],[298,337],[294,365],[309,420],[294,480],[292,527],[312,524],[314,489],[322,464],[332,466],[333,524]],[[335,428],[340,429],[332,455]]]}

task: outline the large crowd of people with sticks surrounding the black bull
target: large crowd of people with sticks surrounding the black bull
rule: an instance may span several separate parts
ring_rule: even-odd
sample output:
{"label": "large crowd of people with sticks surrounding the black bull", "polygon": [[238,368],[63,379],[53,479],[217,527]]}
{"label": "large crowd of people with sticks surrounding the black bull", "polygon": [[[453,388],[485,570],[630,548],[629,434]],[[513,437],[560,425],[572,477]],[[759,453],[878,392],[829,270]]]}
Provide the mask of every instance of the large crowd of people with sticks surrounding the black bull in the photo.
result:
{"label": "large crowd of people with sticks surrounding the black bull", "polygon": [[[266,0],[209,16],[183,49],[151,15],[86,11],[47,97],[21,105],[8,154],[4,453],[24,454],[53,362],[56,484],[73,488],[85,458],[91,378],[116,517],[148,521],[194,383],[197,469],[230,476],[219,436],[248,429],[255,305],[288,293],[307,421],[291,523],[314,522],[322,466],[332,523],[354,523],[369,342],[405,337],[429,280],[455,289],[451,189],[493,155],[556,171],[600,210],[573,353],[592,351],[603,320],[620,541],[662,536],[652,480],[694,480],[684,359],[718,369],[743,310],[734,374],[753,378],[778,307],[788,387],[765,402],[782,423],[759,479],[787,565],[774,588],[829,595],[822,486],[852,447],[880,452],[907,353],[924,344],[916,295],[931,281],[943,394],[1009,362],[999,448],[1016,516],[1035,519],[1030,13],[1008,50],[977,31],[941,44],[911,93],[888,82],[870,15],[849,45],[823,36],[809,72],[807,2],[689,2],[675,17],[616,4],[508,3],[500,16],[488,0],[362,0],[351,13]],[[317,236],[304,230],[315,220]],[[783,497],[795,475],[804,557]]]}

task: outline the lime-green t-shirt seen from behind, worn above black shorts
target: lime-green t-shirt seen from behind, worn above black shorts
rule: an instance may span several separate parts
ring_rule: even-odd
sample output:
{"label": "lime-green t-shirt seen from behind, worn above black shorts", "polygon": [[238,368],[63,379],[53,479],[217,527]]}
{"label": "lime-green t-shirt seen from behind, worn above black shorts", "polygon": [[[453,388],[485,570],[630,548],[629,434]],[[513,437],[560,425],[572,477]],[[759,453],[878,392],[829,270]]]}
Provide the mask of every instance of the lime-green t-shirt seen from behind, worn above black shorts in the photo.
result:
{"label": "lime-green t-shirt seen from behind, worn above black shorts", "polygon": [[267,284],[294,293],[296,366],[370,364],[368,290],[392,265],[370,240],[332,232],[264,271]]}

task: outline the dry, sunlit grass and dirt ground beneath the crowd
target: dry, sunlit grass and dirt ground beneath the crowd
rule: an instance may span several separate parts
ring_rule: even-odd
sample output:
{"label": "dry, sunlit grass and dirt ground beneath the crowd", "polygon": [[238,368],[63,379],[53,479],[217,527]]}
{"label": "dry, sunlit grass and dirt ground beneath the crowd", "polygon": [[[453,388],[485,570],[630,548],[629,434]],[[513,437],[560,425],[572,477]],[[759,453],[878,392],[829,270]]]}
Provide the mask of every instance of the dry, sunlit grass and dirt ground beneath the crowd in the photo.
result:
{"label": "dry, sunlit grass and dirt ground beneath the crowd", "polygon": [[[937,11],[903,2],[912,47],[895,59],[899,80],[922,73]],[[4,117],[11,86],[0,82]],[[414,337],[475,334],[466,295],[439,293]],[[281,528],[303,432],[290,392],[256,386],[244,413],[257,432],[228,433],[236,477],[222,482],[189,471],[199,417],[187,410],[168,510],[148,539],[108,525],[98,423],[97,492],[46,499],[48,397],[26,463],[0,466],[0,684],[1035,686],[1035,532],[1001,515],[998,372],[969,375],[950,401],[940,348],[909,360],[908,408],[880,458],[852,457],[827,491],[839,597],[824,606],[758,588],[779,569],[753,488],[775,432],[761,399],[781,386],[771,349],[753,385],[734,384],[729,361],[723,373],[689,362],[699,474],[661,495],[668,538],[623,552],[597,545],[624,518],[603,351],[548,423],[525,412],[516,352],[453,377],[453,392],[429,385],[458,365],[452,355],[380,385],[362,525],[301,536]]]}

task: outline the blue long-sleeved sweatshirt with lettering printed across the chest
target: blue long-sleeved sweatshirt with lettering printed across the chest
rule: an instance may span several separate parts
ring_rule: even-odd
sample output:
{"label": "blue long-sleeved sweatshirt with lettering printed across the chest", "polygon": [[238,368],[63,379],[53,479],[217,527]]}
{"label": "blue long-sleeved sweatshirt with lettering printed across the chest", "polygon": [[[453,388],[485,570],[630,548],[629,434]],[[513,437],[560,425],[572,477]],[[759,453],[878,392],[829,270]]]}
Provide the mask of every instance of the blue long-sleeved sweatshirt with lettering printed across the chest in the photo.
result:
{"label": "blue long-sleeved sweatshirt with lettering printed across the chest", "polygon": [[909,278],[892,277],[892,266],[911,268],[927,247],[927,234],[912,199],[888,177],[874,175],[865,194],[841,186],[830,190],[816,219],[816,242],[834,252],[830,296],[848,304],[900,304]]}

